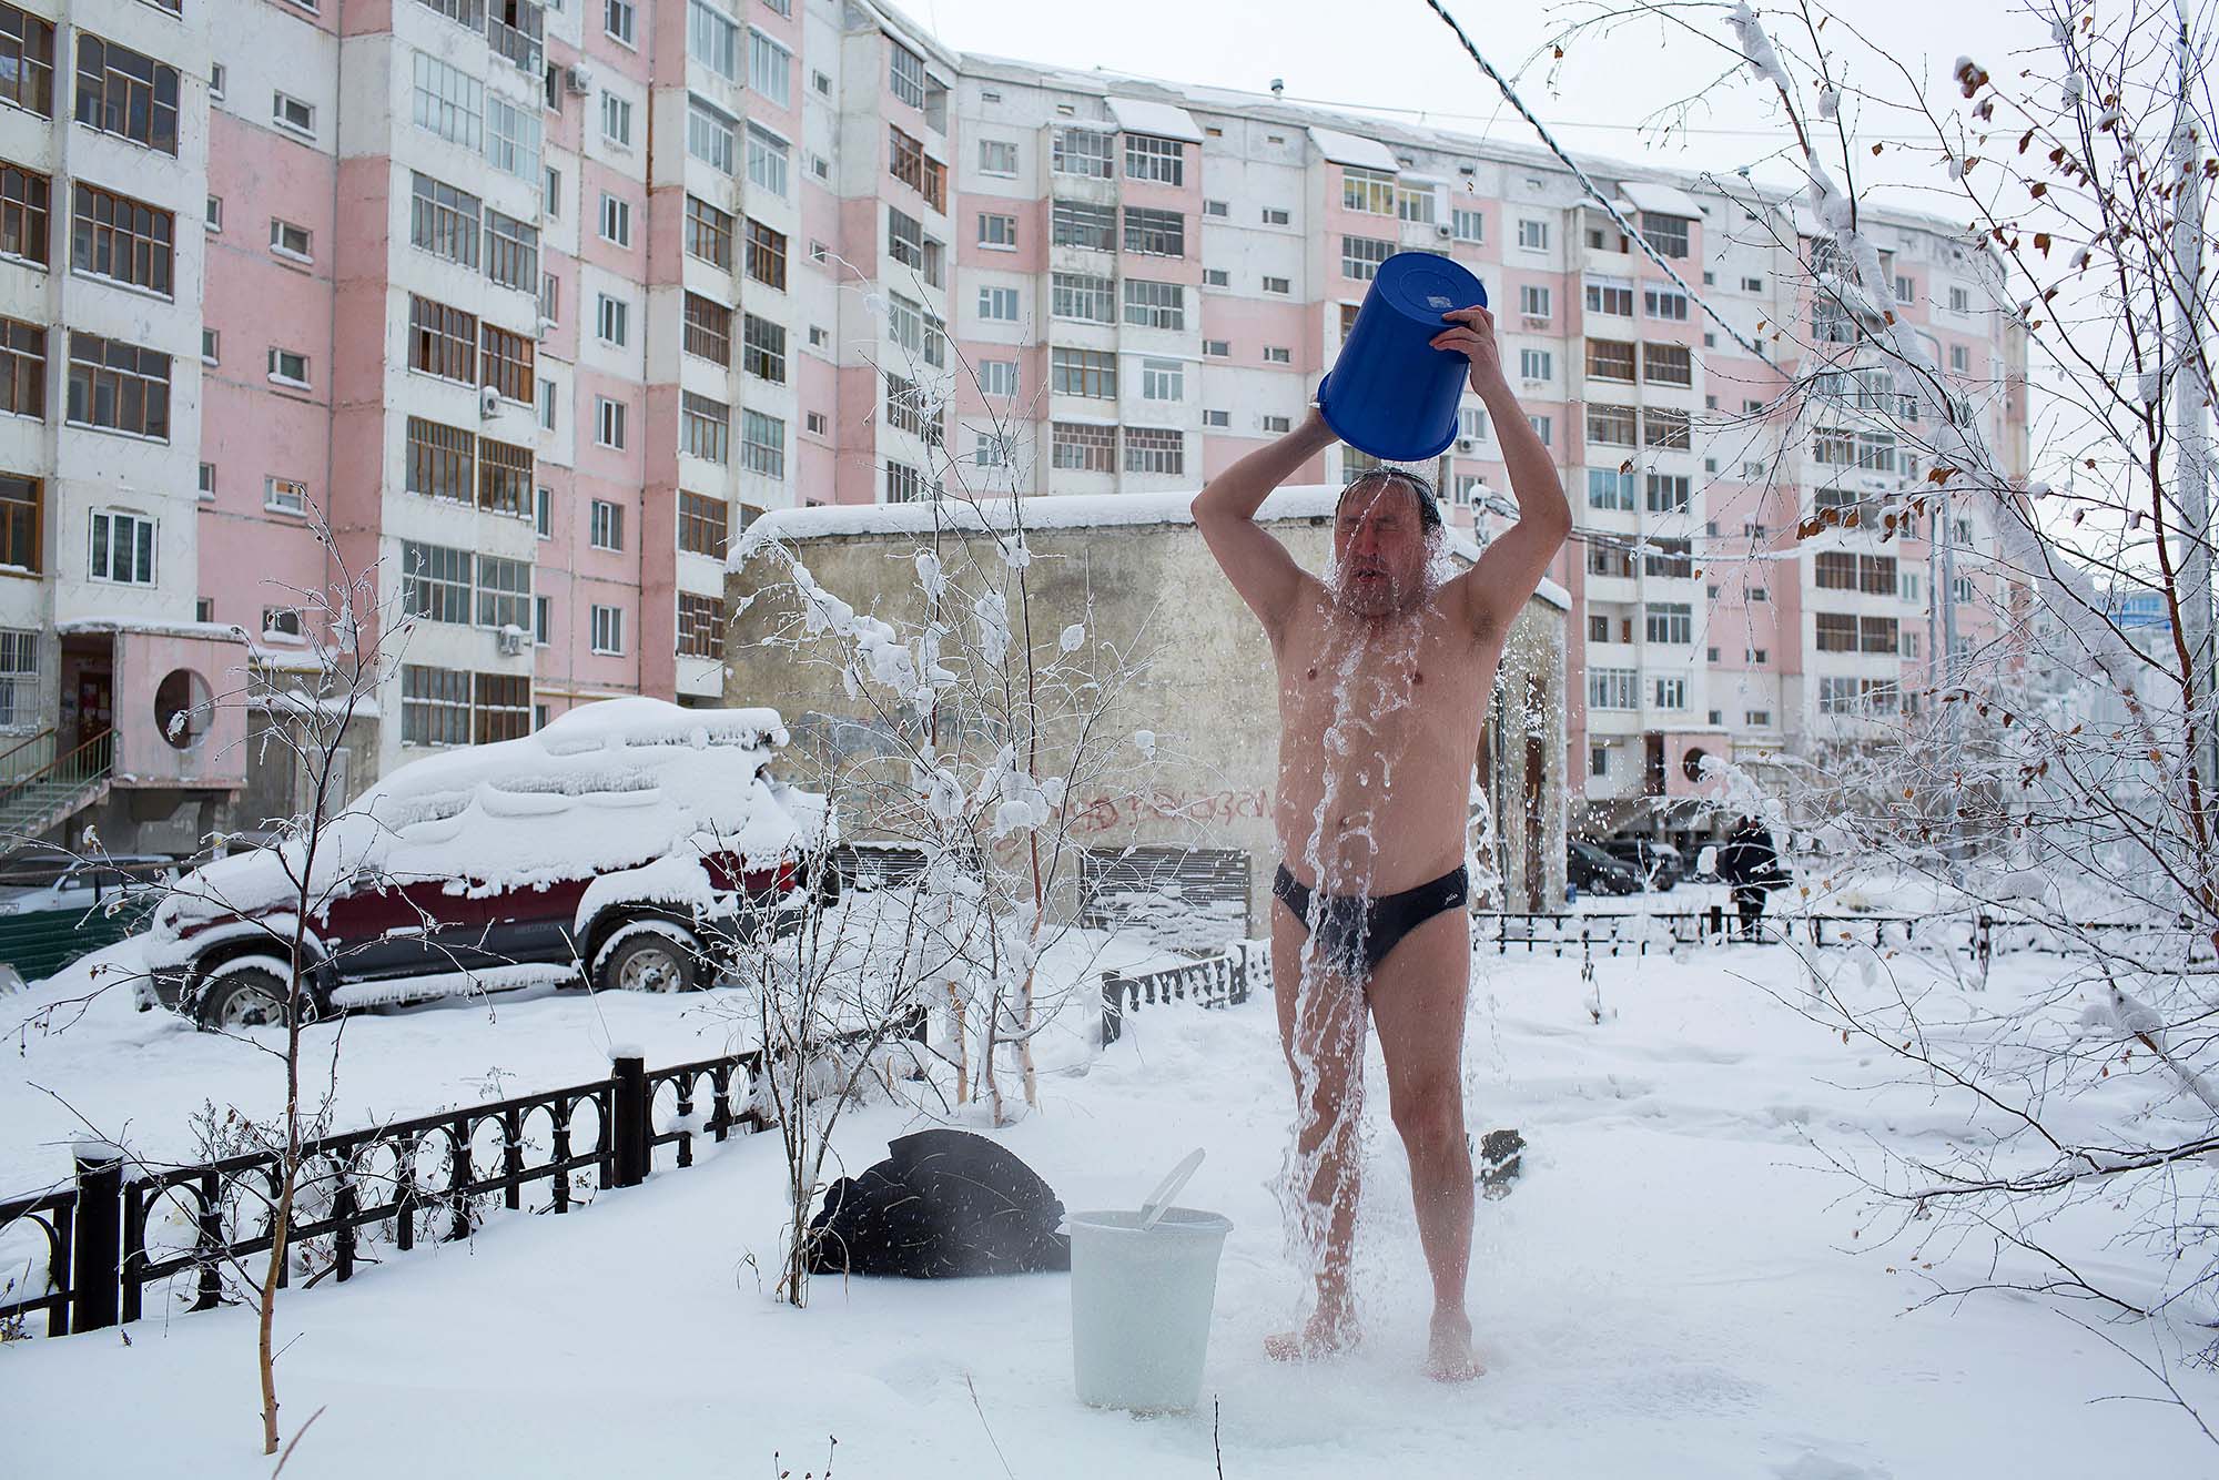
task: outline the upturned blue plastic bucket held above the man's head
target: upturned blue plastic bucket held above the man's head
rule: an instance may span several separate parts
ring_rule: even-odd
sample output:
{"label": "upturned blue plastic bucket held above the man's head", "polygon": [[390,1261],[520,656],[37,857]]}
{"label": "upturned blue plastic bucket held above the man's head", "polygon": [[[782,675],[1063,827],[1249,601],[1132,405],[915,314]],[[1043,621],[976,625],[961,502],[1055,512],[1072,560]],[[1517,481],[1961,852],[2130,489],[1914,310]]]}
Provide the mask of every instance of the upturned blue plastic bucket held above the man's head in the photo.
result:
{"label": "upturned blue plastic bucket held above the man's head", "polygon": [[1380,262],[1365,306],[1318,382],[1318,413],[1349,446],[1387,462],[1425,462],[1456,442],[1456,402],[1471,362],[1431,346],[1451,308],[1485,308],[1487,286],[1429,251]]}

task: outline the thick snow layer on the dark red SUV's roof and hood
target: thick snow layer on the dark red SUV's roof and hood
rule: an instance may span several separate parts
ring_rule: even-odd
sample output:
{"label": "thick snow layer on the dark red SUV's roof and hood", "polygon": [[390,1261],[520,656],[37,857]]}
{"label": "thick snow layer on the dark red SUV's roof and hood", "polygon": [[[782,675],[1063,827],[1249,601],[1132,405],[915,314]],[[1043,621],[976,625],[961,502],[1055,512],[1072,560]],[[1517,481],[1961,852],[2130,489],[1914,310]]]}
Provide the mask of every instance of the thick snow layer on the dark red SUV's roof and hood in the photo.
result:
{"label": "thick snow layer on the dark red SUV's roof and hood", "polygon": [[[559,714],[535,734],[395,768],[315,839],[311,899],[371,870],[450,894],[544,888],[686,848],[772,861],[794,812],[763,781],[786,743],[777,710],[686,710],[639,695]],[[175,890],[178,919],[282,908],[306,839],[217,859]],[[166,910],[164,910],[166,914]]]}

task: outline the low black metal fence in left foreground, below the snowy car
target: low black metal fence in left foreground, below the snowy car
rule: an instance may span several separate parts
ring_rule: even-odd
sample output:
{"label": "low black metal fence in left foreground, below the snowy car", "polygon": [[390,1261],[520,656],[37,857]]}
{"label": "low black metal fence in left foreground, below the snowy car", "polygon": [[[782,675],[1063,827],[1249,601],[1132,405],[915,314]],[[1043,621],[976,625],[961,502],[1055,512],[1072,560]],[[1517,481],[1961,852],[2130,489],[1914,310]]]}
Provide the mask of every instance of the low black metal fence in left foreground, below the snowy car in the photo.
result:
{"label": "low black metal fence in left foreground, below the snowy car", "polygon": [[[916,1041],[923,1027],[921,1012],[905,1023]],[[601,1187],[637,1187],[663,1147],[670,1165],[690,1167],[699,1138],[768,1125],[750,1107],[759,1067],[759,1052],[668,1070],[617,1056],[608,1078],[586,1085],[311,1141],[277,1285],[295,1267],[311,1285],[346,1280],[373,1240],[408,1251],[419,1238],[468,1238],[495,1205],[566,1214]],[[71,1187],[0,1200],[0,1234],[29,1227],[44,1238],[44,1260],[33,1238],[31,1258],[0,1265],[0,1336],[33,1336],[40,1316],[47,1336],[138,1320],[146,1291],[178,1278],[191,1280],[178,1296],[189,1309],[222,1305],[226,1269],[268,1254],[282,1185],[280,1152],[131,1167],[113,1147],[80,1147]]]}

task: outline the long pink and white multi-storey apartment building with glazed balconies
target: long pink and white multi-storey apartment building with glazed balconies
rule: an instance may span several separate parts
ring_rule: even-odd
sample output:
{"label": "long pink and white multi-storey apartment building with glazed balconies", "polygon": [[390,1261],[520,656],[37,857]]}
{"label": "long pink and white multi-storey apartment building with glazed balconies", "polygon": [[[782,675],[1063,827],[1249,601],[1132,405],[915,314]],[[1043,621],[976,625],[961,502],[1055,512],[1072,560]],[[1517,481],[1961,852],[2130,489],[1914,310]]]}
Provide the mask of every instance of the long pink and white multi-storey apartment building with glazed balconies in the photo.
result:
{"label": "long pink and white multi-storey apartment building with glazed balconies", "polygon": [[[104,768],[0,823],[102,805],[109,848],[189,848],[291,805],[220,699],[313,637],[395,659],[353,785],[608,695],[719,703],[754,513],[1194,488],[1305,413],[1378,262],[1422,249],[1487,282],[1580,515],[1591,825],[1653,830],[1691,752],[1886,723],[1935,592],[1919,541],[1795,541],[1919,473],[1808,222],[1613,169],[1735,326],[1802,331],[1775,364],[1538,151],[959,55],[872,0],[0,0],[0,785]],[[1875,231],[2022,446],[1982,255]],[[1813,337],[1848,355],[1824,426],[1777,410]],[[1462,433],[1485,530],[1476,402]]]}

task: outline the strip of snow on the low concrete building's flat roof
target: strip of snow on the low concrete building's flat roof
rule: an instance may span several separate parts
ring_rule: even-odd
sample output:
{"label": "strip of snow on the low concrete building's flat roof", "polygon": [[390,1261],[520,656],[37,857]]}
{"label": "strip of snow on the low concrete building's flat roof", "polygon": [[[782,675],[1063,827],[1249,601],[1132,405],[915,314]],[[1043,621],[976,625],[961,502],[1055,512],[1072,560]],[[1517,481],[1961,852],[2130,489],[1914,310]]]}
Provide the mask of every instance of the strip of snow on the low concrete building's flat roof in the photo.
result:
{"label": "strip of snow on the low concrete building's flat roof", "polygon": [[[1340,484],[1283,486],[1263,501],[1256,519],[1325,519],[1340,506]],[[916,504],[819,504],[817,508],[772,508],[732,541],[728,570],[741,570],[766,544],[841,539],[850,535],[930,535],[972,530],[1005,535],[1023,517],[1027,530],[1105,528],[1132,524],[1194,524],[1192,493],[1056,493],[1030,499],[921,499]],[[1449,530],[1449,550],[1478,559],[1480,546],[1462,530]],[[1571,595],[1542,579],[1536,592],[1558,610],[1571,610]]]}

